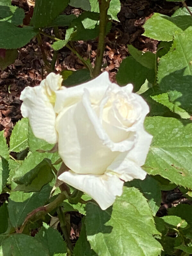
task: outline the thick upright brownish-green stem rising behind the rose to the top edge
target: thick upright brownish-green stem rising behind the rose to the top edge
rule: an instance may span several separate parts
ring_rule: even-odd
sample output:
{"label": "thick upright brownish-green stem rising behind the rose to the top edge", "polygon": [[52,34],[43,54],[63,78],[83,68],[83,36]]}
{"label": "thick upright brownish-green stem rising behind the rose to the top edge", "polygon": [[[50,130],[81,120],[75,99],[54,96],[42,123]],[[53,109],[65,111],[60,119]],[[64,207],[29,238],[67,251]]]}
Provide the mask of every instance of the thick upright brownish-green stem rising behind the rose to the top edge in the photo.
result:
{"label": "thick upright brownish-green stem rising behind the rose to the top edge", "polygon": [[107,11],[109,9],[110,0],[99,0],[99,10],[100,10],[100,18],[99,18],[99,40],[97,46],[97,56],[95,60],[95,67],[93,70],[93,77],[98,76],[101,73],[101,66],[103,62],[103,54],[105,50],[105,33],[106,33],[106,25],[108,21]]}

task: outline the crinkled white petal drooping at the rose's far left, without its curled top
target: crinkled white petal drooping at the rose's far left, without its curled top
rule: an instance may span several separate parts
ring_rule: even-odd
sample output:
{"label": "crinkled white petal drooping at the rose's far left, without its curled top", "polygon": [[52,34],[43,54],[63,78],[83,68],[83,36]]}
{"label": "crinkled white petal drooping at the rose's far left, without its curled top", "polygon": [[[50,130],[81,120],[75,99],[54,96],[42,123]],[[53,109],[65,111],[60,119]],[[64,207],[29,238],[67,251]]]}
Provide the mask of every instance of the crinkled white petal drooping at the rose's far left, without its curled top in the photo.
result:
{"label": "crinkled white petal drooping at the rose's far left, without its curled top", "polygon": [[28,86],[22,91],[20,99],[23,101],[22,116],[29,118],[34,135],[48,143],[56,143],[56,114],[53,105],[45,94],[45,88]]}

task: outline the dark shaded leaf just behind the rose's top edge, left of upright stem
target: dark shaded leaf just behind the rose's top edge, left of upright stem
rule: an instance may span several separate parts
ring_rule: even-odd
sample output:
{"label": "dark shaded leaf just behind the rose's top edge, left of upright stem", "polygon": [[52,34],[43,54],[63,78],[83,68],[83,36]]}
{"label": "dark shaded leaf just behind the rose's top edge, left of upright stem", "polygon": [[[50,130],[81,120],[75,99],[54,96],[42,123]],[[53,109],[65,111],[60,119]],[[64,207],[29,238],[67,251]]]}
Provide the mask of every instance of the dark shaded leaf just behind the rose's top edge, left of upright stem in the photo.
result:
{"label": "dark shaded leaf just behind the rose's top edge, left of upright stem", "polygon": [[[61,74],[62,75],[62,74]],[[89,70],[86,68],[72,71],[71,75],[63,82],[66,87],[82,84],[91,80]]]}

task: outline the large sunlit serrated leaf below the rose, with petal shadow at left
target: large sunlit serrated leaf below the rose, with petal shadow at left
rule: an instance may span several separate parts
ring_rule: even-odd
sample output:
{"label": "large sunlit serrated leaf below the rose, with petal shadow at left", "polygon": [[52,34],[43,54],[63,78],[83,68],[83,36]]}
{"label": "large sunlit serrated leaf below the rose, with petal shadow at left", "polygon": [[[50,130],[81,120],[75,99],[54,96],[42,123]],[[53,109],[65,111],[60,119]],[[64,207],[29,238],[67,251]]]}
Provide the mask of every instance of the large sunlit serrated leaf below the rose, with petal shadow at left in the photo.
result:
{"label": "large sunlit serrated leaf below the rose, with petal shadow at left", "polygon": [[159,233],[151,209],[139,190],[124,187],[113,206],[102,211],[89,203],[86,214],[87,239],[98,255],[161,254],[161,245],[153,238]]}

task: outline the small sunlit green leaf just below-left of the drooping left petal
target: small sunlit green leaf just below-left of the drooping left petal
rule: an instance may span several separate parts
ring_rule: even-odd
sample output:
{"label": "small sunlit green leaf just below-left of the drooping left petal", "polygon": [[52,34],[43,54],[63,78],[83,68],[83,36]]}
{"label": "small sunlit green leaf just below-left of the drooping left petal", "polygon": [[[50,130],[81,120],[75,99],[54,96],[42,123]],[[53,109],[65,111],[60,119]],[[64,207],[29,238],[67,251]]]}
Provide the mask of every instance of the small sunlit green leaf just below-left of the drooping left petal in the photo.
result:
{"label": "small sunlit green leaf just below-left of the drooping left petal", "polygon": [[21,152],[29,147],[28,145],[28,119],[23,118],[16,123],[10,137],[9,150]]}

